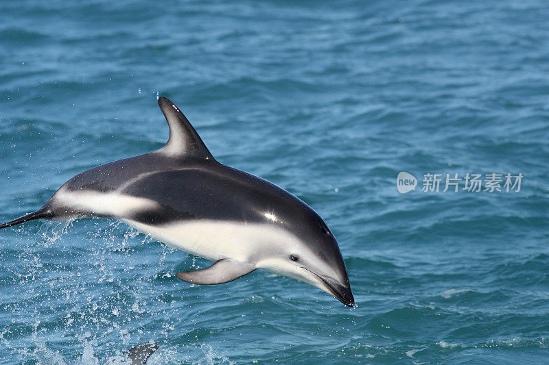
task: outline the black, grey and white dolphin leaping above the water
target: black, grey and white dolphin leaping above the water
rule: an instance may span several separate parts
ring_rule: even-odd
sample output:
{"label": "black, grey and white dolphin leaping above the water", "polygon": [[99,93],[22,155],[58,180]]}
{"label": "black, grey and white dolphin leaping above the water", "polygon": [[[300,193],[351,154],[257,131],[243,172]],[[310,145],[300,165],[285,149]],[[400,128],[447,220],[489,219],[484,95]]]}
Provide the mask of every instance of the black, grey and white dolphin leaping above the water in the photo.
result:
{"label": "black, grey and white dolphin leaping above the water", "polygon": [[353,306],[338,242],[322,218],[290,192],[215,160],[179,108],[165,97],[158,103],[170,127],[161,149],[84,171],[39,210],[0,228],[115,218],[214,262],[176,273],[187,283],[222,284],[262,268]]}

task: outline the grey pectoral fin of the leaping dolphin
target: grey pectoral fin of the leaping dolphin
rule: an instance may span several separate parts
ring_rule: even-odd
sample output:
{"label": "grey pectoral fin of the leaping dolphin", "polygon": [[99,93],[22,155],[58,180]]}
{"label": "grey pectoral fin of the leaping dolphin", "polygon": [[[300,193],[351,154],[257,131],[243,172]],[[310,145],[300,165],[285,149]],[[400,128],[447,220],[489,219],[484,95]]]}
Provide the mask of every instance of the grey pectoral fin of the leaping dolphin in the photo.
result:
{"label": "grey pectoral fin of the leaping dolphin", "polygon": [[221,259],[213,265],[201,270],[183,271],[176,273],[176,276],[191,284],[223,284],[238,279],[241,276],[251,273],[255,267],[246,262],[231,259]]}

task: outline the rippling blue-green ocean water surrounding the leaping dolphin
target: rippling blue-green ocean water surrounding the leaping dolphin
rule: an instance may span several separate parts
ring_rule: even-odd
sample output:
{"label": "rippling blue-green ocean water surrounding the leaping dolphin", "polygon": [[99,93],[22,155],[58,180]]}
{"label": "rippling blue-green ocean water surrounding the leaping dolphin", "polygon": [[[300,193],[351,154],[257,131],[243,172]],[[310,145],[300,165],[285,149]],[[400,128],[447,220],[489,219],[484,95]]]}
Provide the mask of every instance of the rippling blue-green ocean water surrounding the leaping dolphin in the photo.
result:
{"label": "rippling blue-green ocean water surrounding the leaping dolphin", "polygon": [[[546,1],[0,2],[0,220],[158,149],[170,97],[213,155],[314,207],[357,306],[123,223],[0,231],[0,363],[549,362]],[[417,179],[397,190],[397,175]],[[522,174],[506,192],[445,177]],[[441,174],[438,192],[425,192]],[[118,360],[117,360],[118,359]]]}

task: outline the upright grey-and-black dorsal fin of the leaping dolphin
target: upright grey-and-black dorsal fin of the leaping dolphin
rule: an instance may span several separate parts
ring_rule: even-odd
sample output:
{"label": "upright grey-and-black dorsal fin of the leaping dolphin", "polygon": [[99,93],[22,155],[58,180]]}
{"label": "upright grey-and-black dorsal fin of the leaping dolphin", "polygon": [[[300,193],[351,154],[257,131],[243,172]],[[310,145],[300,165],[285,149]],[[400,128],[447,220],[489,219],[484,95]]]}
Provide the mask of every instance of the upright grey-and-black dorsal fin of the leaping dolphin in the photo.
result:
{"label": "upright grey-and-black dorsal fin of the leaping dolphin", "polygon": [[196,130],[172,101],[159,97],[159,107],[170,127],[170,138],[161,151],[169,155],[188,155],[213,160],[213,156]]}

